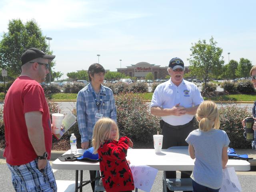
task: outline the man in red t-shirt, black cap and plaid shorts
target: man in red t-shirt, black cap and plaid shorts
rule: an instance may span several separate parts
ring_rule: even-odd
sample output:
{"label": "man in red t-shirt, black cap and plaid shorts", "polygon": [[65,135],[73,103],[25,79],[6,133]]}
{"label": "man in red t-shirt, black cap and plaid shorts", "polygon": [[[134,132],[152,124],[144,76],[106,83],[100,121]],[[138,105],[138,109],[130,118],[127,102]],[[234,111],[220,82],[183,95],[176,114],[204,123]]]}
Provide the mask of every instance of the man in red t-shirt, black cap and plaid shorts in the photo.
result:
{"label": "man in red t-shirt, black cap and plaid shorts", "polygon": [[4,158],[16,191],[57,191],[48,162],[52,127],[44,90],[49,62],[55,58],[37,48],[21,56],[21,74],[10,86],[4,102],[6,148]]}

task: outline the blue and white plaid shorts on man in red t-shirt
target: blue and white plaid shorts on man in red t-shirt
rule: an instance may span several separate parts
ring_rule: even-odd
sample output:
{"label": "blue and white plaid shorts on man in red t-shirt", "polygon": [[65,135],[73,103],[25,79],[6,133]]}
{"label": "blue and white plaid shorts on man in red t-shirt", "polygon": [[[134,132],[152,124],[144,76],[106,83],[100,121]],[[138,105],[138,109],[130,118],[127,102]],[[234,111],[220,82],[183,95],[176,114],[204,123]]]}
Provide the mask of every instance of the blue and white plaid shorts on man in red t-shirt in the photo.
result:
{"label": "blue and white plaid shorts on man in red t-shirt", "polygon": [[38,170],[38,159],[20,166],[12,166],[7,163],[12,172],[12,184],[16,192],[56,192],[52,167],[47,161],[46,167]]}

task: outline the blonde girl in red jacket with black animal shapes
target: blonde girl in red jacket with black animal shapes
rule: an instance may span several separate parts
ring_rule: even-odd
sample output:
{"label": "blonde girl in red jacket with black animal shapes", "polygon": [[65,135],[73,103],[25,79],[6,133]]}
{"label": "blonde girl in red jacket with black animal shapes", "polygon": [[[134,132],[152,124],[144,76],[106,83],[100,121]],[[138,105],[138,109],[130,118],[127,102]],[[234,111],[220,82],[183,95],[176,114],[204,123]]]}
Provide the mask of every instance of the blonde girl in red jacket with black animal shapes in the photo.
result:
{"label": "blonde girl in red jacket with black animal shapes", "polygon": [[98,120],[93,129],[93,153],[99,154],[100,172],[106,192],[131,192],[134,190],[134,182],[126,154],[133,143],[126,136],[118,138],[118,127],[114,120]]}

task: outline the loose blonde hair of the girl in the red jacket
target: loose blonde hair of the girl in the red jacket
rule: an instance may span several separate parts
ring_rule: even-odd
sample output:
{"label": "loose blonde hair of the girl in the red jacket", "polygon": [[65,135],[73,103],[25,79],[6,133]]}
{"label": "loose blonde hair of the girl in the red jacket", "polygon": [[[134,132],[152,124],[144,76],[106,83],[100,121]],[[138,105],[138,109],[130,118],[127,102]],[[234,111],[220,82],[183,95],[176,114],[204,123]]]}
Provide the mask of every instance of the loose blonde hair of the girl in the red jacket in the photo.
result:
{"label": "loose blonde hair of the girl in the red jacket", "polygon": [[118,126],[116,125],[116,122],[110,118],[102,118],[99,119],[94,128],[93,128],[93,134],[92,134],[92,146],[94,148],[93,154],[98,153],[98,148],[100,148],[100,145],[105,141],[110,139],[111,136],[111,125],[114,124],[116,127],[116,138],[115,140],[118,140],[119,138],[119,131]]}

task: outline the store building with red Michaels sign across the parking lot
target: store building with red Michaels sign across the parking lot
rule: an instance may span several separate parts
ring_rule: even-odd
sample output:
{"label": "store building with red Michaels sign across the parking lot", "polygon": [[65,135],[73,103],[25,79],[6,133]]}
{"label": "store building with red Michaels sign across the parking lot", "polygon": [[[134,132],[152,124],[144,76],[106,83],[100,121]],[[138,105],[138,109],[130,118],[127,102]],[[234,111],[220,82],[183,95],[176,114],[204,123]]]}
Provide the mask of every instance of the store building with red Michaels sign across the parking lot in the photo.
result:
{"label": "store building with red Michaels sign across the parking lot", "polygon": [[[117,72],[126,74],[130,77],[145,78],[146,74],[152,73],[154,79],[165,79],[168,74],[168,66],[160,67],[160,65],[150,64],[148,62],[139,62],[135,65],[126,66],[126,68],[117,68]],[[185,66],[185,73],[189,67]]]}

